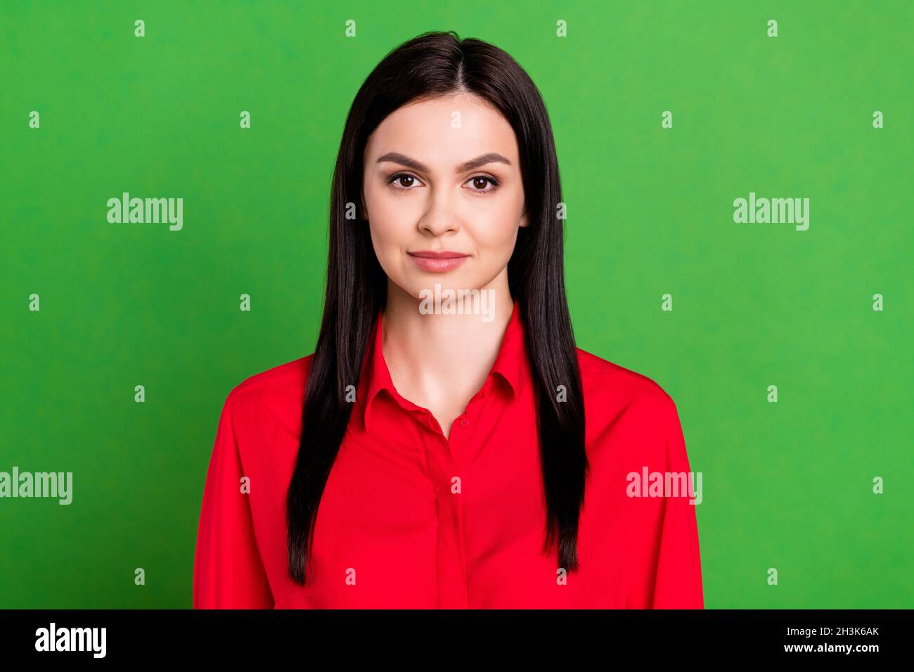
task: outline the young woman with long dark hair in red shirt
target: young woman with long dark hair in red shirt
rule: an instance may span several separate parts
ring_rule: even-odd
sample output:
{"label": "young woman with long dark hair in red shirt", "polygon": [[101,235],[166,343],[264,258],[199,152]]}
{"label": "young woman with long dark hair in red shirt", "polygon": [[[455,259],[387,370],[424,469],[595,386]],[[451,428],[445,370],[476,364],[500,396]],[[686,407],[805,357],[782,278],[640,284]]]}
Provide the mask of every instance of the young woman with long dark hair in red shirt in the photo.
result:
{"label": "young woman with long dark hair in red shirt", "polygon": [[562,208],[546,107],[504,51],[427,33],[377,65],[314,354],[223,407],[195,607],[703,606],[675,404],[575,346]]}

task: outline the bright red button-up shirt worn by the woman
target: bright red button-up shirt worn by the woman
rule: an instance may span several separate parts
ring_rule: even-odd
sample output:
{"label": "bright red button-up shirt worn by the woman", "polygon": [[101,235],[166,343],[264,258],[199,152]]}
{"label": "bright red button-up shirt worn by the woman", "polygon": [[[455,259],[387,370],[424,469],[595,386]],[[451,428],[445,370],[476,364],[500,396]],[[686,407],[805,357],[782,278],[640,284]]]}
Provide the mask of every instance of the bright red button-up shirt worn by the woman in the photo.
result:
{"label": "bright red button-up shirt worn by the woman", "polygon": [[195,608],[704,606],[695,505],[683,491],[647,496],[632,477],[689,473],[675,404],[659,385],[578,350],[590,475],[579,571],[563,577],[555,553],[541,553],[546,508],[517,305],[450,440],[394,389],[380,325],[318,508],[305,586],[286,573],[285,503],[312,356],[229,392],[200,511]]}

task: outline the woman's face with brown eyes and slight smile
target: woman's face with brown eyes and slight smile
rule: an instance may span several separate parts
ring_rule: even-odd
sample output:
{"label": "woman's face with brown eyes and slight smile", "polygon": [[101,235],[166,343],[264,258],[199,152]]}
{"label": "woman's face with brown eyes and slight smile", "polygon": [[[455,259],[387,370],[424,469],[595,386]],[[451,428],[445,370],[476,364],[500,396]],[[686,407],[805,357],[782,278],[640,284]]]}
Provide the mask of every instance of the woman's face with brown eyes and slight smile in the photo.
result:
{"label": "woman's face with brown eyes and slight smile", "polygon": [[436,283],[506,289],[528,221],[515,133],[491,105],[467,93],[409,103],[368,138],[364,165],[363,214],[392,283],[417,299]]}

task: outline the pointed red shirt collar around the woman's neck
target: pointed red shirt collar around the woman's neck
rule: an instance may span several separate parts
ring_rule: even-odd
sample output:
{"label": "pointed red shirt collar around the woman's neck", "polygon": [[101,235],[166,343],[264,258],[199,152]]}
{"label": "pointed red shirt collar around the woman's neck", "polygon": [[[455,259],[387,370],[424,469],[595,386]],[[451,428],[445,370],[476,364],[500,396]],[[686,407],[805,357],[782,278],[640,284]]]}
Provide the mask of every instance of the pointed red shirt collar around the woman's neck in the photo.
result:
{"label": "pointed red shirt collar around the woman's neck", "polygon": [[[398,396],[381,349],[381,343],[383,342],[381,323],[381,312],[378,311],[375,316],[375,324],[372,327],[370,336],[368,336],[368,347],[366,348],[365,360],[362,364],[362,373],[356,394],[356,399],[364,410],[363,422],[366,430],[369,429],[371,409],[377,394],[387,390],[388,394],[394,397]],[[529,358],[526,348],[526,329],[524,319],[520,313],[520,304],[516,301],[511,312],[511,319],[505,329],[505,336],[502,337],[501,347],[498,349],[498,356],[495,357],[495,362],[489,374],[489,379],[492,379],[491,382],[494,382],[495,374],[497,374],[497,378],[507,383],[507,389],[515,396],[523,391],[528,382],[527,379],[530,377]],[[486,387],[490,385],[489,379],[486,379]]]}

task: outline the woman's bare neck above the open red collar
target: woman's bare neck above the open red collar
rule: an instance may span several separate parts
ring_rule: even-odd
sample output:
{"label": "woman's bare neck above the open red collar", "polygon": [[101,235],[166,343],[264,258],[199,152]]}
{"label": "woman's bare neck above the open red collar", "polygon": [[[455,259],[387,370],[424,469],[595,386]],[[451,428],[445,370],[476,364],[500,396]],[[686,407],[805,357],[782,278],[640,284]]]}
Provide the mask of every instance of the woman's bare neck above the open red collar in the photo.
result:
{"label": "woman's bare neck above the open red collar", "polygon": [[498,357],[514,310],[506,269],[478,298],[474,305],[484,305],[486,315],[447,315],[435,312],[434,294],[423,304],[388,280],[382,349],[390,378],[402,397],[431,412],[446,437]]}

